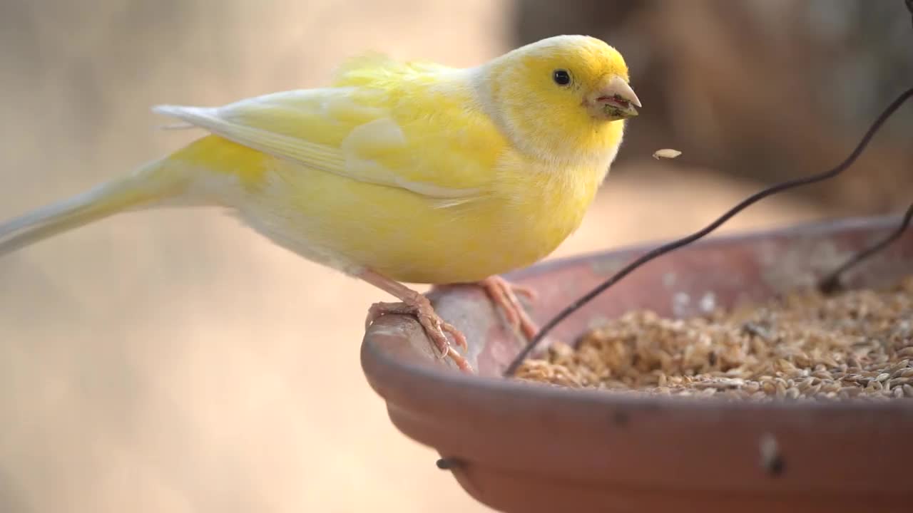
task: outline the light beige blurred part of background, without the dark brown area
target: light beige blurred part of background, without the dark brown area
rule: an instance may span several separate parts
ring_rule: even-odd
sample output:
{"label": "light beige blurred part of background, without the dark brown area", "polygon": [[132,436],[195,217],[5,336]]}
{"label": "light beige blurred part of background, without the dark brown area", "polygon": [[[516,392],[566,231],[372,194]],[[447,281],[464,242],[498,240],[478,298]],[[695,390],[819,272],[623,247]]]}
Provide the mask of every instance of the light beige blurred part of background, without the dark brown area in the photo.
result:
{"label": "light beige blurred part of background, without the dark brown area", "polygon": [[[152,104],[318,86],[362,49],[472,65],[510,46],[513,9],[4,2],[0,218],[177,149],[190,134],[155,131]],[[684,234],[758,187],[626,155],[556,256]],[[824,215],[778,199],[725,230]],[[0,260],[0,510],[484,510],[362,377],[381,299],[205,210],[122,215]]]}

